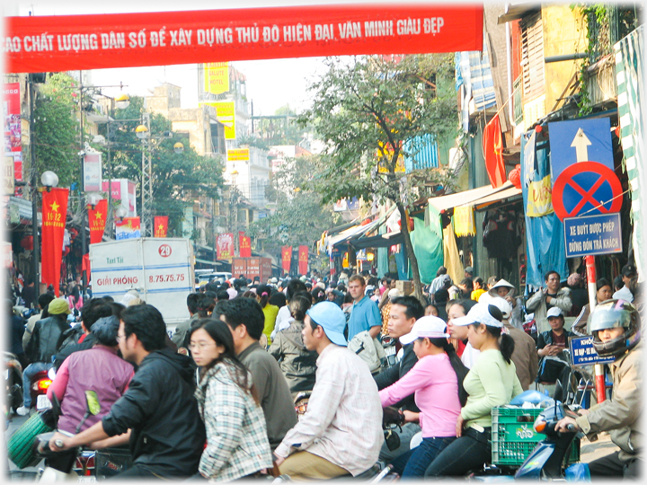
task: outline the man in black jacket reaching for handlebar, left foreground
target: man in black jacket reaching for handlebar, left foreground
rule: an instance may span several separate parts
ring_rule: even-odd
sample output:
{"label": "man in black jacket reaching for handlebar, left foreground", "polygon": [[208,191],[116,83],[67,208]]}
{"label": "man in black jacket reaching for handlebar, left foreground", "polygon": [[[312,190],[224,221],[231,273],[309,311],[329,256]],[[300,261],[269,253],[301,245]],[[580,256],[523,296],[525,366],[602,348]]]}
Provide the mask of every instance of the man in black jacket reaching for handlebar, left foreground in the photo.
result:
{"label": "man in black jacket reaching for handlebar, left foreground", "polygon": [[198,472],[206,435],[193,396],[195,366],[191,357],[166,348],[165,334],[164,319],[154,306],[124,310],[117,340],[123,357],[138,366],[128,391],[93,427],[74,437],[56,433],[51,449],[129,442],[133,466],[120,478],[178,479]]}

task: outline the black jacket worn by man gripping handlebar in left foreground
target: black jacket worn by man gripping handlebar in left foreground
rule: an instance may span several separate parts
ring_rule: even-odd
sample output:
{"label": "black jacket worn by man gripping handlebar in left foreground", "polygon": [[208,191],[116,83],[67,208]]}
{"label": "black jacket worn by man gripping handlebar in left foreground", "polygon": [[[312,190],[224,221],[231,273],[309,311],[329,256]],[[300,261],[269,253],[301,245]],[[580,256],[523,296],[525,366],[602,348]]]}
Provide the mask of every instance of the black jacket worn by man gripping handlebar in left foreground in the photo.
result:
{"label": "black jacket worn by man gripping handlebar in left foreground", "polygon": [[134,463],[165,477],[188,477],[198,472],[206,434],[199,416],[191,357],[168,348],[142,360],[128,391],[102,419],[109,436],[129,428]]}

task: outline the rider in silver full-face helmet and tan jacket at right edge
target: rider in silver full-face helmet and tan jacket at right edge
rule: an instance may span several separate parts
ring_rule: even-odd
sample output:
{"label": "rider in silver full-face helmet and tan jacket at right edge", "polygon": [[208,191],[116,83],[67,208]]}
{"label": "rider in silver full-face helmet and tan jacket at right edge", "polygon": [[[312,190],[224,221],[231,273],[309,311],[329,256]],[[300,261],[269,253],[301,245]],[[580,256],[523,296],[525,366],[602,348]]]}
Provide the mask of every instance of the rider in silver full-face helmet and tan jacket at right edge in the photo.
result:
{"label": "rider in silver full-face helmet and tan jacket at right edge", "polygon": [[620,450],[589,463],[591,478],[622,476],[636,480],[643,468],[643,433],[639,417],[643,411],[643,346],[640,345],[640,316],[633,304],[611,299],[598,304],[590,315],[593,347],[600,357],[616,357],[609,364],[613,393],[589,410],[580,410],[577,419],[566,417],[555,425],[566,431],[568,425],[589,438],[608,431]]}

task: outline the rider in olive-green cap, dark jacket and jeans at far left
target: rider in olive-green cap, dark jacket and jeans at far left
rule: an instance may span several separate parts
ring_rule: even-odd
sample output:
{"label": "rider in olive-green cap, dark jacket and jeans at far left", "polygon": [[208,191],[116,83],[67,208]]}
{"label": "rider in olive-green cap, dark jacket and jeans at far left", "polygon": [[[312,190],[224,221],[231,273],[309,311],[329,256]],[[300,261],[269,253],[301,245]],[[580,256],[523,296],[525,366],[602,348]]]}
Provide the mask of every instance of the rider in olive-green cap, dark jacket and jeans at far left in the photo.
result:
{"label": "rider in olive-green cap, dark jacket and jeans at far left", "polygon": [[63,332],[70,328],[67,315],[70,314],[69,305],[63,298],[56,298],[49,302],[49,317],[39,320],[34,325],[30,341],[25,348],[25,355],[31,364],[22,372],[22,406],[16,410],[19,416],[29,414],[31,408],[31,378],[42,370],[49,370],[60,346]]}

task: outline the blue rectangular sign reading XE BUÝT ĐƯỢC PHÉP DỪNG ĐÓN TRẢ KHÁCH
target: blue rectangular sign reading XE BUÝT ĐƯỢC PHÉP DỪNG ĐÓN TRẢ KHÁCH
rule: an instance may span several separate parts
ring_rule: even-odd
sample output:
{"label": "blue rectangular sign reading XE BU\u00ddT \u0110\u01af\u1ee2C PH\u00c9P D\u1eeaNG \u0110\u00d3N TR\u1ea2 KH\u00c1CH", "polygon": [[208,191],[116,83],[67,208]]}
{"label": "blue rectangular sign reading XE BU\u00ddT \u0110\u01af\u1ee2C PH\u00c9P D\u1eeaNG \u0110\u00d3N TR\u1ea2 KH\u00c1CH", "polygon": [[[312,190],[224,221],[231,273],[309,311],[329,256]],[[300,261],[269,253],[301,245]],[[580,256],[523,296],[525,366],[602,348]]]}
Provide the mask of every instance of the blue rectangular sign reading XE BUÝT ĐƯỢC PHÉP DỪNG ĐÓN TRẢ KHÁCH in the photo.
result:
{"label": "blue rectangular sign reading XE BU\u00ddT \u0110\u01af\u1ee2C PH\u00c9P D\u1eeaNG \u0110\u00d3N TR\u1ea2 KH\u00c1CH", "polygon": [[567,258],[622,252],[618,213],[567,217],[563,223]]}

